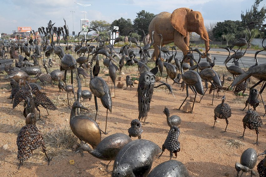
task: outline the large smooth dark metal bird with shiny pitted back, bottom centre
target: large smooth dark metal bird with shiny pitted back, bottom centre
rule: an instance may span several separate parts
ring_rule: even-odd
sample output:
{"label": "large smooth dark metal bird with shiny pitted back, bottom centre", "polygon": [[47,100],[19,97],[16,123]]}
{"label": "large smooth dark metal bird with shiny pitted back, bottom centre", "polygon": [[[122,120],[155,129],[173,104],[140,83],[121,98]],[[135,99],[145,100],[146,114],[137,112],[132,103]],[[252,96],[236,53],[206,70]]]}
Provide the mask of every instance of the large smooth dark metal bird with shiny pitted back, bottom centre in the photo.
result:
{"label": "large smooth dark metal bird with shiny pitted back, bottom centre", "polygon": [[159,146],[149,140],[137,139],[127,143],[115,158],[112,177],[146,177],[154,156],[159,153]]}

